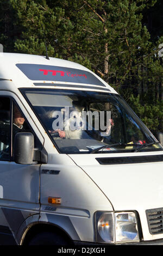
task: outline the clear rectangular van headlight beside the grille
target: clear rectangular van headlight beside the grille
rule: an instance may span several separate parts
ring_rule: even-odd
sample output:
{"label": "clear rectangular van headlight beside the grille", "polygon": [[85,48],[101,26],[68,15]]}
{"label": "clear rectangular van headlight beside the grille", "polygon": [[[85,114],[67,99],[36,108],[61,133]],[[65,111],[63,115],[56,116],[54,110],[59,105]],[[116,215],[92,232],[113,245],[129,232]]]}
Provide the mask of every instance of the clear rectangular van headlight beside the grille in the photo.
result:
{"label": "clear rectangular van headlight beside the grille", "polygon": [[135,212],[96,212],[97,242],[140,241]]}

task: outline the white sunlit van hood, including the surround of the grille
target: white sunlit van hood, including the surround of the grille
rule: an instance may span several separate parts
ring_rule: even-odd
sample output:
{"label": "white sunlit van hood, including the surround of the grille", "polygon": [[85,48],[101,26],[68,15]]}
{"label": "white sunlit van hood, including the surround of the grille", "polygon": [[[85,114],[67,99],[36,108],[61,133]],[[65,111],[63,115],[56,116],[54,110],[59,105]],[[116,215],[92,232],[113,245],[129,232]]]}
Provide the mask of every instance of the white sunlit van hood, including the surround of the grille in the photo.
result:
{"label": "white sunlit van hood, including the surround of the grille", "polygon": [[144,239],[163,237],[149,234],[146,216],[146,210],[163,209],[163,162],[99,164],[97,154],[70,157],[102,190],[115,211],[139,212]]}

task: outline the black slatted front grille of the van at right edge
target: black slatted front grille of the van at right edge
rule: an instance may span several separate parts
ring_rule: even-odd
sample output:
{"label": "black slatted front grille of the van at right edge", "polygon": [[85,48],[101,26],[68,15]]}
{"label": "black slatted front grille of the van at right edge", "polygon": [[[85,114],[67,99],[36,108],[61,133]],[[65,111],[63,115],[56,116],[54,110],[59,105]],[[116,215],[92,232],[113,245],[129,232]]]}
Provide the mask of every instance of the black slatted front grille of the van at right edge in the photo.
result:
{"label": "black slatted front grille of the van at right edge", "polygon": [[146,210],[149,232],[152,235],[163,233],[163,208]]}

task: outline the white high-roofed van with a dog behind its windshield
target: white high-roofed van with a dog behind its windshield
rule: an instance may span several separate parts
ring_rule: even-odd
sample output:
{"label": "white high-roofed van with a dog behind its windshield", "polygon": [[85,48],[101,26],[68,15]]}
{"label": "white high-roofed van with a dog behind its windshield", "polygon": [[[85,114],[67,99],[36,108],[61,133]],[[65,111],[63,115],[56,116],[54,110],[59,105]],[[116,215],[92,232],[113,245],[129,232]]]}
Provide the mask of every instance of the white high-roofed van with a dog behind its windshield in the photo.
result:
{"label": "white high-roofed van with a dog behind its windshield", "polygon": [[92,71],[0,53],[1,245],[163,244],[162,171],[162,145]]}

